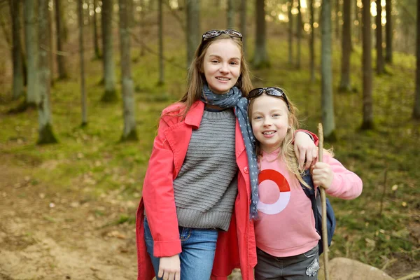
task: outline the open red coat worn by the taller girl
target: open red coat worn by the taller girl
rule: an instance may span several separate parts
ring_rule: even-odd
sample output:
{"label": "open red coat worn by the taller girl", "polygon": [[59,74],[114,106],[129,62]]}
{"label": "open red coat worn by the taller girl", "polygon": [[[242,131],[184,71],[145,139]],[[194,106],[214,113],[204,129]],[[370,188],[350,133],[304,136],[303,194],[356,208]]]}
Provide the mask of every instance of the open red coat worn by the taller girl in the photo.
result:
{"label": "open red coat worn by the taller girl", "polygon": [[[180,104],[173,104],[162,112],[158,135],[144,179],[143,197],[137,210],[136,237],[138,280],[151,280],[154,276],[151,259],[144,241],[144,209],[154,239],[157,257],[181,253],[178,219],[174,200],[173,181],[186,157],[193,129],[200,126],[204,103],[195,102],[185,120],[181,116],[165,116],[167,112],[179,113]],[[242,279],[253,279],[253,267],[257,263],[253,221],[249,218],[251,191],[248,176],[248,160],[239,123],[235,131],[235,155],[238,172],[238,195],[234,215],[227,232],[219,232],[216,256],[211,278],[227,279],[235,267],[241,268]]]}

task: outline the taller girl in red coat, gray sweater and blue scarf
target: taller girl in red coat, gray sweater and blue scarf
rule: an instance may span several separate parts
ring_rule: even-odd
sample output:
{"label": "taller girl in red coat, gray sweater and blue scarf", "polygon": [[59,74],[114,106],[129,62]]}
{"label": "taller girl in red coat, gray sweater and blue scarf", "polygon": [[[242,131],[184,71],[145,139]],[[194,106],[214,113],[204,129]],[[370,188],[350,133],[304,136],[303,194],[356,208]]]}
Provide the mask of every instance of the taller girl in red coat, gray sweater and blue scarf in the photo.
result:
{"label": "taller girl in red coat, gray sweater and blue scarf", "polygon": [[[225,279],[239,266],[243,279],[253,279],[251,88],[241,34],[204,33],[188,91],[162,112],[153,143],[137,211],[139,280]],[[301,132],[295,142],[310,164],[313,141]]]}

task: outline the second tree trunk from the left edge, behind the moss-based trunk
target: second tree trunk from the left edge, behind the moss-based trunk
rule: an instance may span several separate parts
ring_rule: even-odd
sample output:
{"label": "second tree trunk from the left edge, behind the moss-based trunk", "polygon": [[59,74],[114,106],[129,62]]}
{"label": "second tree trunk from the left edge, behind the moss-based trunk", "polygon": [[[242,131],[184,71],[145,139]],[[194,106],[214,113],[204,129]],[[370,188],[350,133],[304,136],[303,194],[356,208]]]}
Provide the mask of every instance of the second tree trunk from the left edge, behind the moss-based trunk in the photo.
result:
{"label": "second tree trunk from the left edge, behind the moss-based trunk", "polygon": [[24,17],[25,17],[25,45],[27,50],[27,99],[26,102],[29,106],[35,105],[38,102],[38,85],[37,85],[37,73],[38,73],[38,40],[36,38],[36,12],[34,0],[25,0],[24,2]]}

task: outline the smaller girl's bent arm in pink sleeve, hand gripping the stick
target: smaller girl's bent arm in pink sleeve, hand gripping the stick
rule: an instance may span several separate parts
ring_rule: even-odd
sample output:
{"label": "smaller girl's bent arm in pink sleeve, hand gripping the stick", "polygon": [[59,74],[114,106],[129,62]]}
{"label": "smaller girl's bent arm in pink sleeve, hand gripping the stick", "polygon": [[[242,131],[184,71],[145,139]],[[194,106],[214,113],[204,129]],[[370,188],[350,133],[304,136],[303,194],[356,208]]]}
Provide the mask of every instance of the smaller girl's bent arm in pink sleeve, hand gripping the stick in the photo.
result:
{"label": "smaller girl's bent arm in pink sleeve, hand gripping the stick", "polygon": [[349,171],[328,153],[323,155],[324,162],[316,162],[312,168],[315,186],[323,186],[328,195],[352,200],[362,193],[363,183],[359,176]]}

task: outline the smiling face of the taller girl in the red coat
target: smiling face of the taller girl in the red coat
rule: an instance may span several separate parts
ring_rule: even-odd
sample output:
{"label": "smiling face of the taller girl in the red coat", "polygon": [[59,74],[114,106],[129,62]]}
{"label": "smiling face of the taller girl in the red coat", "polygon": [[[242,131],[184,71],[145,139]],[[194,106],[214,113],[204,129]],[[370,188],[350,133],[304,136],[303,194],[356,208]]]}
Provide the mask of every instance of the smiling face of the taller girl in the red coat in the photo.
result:
{"label": "smiling face of the taller girl in the red coat", "polygon": [[230,38],[211,43],[203,61],[204,76],[211,91],[229,92],[241,74],[241,51]]}

